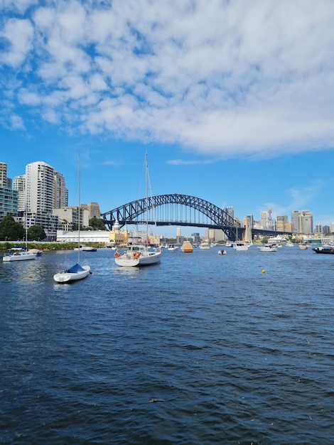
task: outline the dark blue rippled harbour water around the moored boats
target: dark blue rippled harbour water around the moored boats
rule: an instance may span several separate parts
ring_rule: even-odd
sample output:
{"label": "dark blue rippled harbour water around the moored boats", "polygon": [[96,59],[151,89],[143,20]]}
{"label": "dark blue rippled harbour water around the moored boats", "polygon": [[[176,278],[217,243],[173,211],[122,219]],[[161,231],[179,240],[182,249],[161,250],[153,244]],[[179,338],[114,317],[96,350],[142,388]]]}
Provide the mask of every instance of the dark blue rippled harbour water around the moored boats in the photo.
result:
{"label": "dark blue rippled harbour water around the moored boats", "polygon": [[0,444],[333,444],[332,255],[0,264]]}

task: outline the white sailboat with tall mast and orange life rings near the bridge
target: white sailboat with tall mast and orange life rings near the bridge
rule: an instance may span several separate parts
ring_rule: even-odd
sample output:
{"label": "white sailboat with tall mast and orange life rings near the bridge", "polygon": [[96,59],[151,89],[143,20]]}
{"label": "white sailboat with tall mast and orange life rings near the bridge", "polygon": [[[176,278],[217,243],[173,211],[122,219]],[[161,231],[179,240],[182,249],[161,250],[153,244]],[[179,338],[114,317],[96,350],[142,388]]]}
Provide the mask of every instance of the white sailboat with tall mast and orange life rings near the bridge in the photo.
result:
{"label": "white sailboat with tall mast and orange life rings near the bridge", "polygon": [[149,168],[147,165],[147,154],[145,154],[145,171],[146,171],[146,242],[129,244],[122,252],[114,253],[115,263],[118,266],[134,267],[134,266],[150,266],[151,264],[157,264],[161,259],[161,249],[149,250],[149,223],[148,223],[148,210],[149,210],[149,197],[148,197],[148,184],[149,184]]}

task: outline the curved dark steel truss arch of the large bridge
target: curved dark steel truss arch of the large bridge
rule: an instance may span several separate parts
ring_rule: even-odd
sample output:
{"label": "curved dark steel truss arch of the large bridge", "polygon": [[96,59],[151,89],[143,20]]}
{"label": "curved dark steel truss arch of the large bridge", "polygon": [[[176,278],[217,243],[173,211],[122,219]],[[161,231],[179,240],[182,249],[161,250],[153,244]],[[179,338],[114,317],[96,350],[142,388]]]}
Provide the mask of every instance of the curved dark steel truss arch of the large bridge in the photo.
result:
{"label": "curved dark steel truss arch of the large bridge", "polygon": [[[149,217],[149,214],[155,212],[157,208],[168,205],[181,205],[196,210],[198,213],[205,215],[208,220],[205,223],[200,221],[182,221],[182,220],[163,220],[158,218]],[[227,235],[229,240],[236,240],[237,235],[241,237],[244,232],[239,221],[232,218],[221,208],[217,207],[207,200],[197,198],[190,195],[181,195],[173,193],[170,195],[157,195],[150,198],[141,198],[139,200],[126,203],[120,207],[114,208],[109,212],[102,213],[102,221],[109,230],[116,221],[123,227],[124,225],[145,223],[146,219],[149,224],[153,224],[156,221],[157,225],[186,225],[193,227],[209,227],[215,229],[221,229]]]}

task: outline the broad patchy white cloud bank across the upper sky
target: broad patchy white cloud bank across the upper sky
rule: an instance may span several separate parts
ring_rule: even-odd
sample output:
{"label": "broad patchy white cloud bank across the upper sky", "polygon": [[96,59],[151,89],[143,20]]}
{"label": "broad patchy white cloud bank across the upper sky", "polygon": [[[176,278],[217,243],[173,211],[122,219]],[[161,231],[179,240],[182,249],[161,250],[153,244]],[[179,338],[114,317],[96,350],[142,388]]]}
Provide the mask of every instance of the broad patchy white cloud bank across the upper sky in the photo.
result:
{"label": "broad patchy white cloud bank across the upper sky", "polygon": [[334,145],[331,0],[34,3],[2,21],[16,114],[217,157]]}

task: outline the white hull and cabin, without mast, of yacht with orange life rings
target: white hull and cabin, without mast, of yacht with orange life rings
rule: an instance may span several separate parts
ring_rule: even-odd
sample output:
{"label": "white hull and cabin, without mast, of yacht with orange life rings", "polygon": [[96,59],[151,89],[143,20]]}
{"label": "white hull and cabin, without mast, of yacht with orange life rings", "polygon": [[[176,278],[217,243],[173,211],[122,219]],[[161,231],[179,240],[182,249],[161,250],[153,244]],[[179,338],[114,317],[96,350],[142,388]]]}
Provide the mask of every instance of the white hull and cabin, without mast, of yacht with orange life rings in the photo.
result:
{"label": "white hull and cabin, without mast, of yacht with orange life rings", "polygon": [[124,250],[117,250],[114,253],[115,263],[118,266],[134,267],[149,266],[160,262],[161,250],[149,250],[144,244],[128,245]]}

